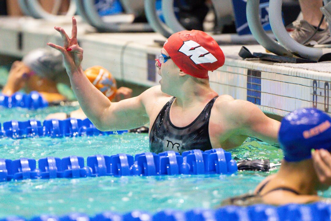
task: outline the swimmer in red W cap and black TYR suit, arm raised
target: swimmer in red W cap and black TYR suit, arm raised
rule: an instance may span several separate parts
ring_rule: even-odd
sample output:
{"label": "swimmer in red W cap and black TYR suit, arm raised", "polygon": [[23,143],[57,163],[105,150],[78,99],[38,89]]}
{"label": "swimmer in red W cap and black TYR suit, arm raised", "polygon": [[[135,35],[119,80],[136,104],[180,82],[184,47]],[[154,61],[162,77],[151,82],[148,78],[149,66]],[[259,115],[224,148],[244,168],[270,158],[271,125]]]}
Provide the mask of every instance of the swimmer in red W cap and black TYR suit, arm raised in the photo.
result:
{"label": "swimmer in red W cap and black TYR suit, arm raised", "polygon": [[139,96],[111,102],[82,70],[83,49],[77,43],[75,18],[71,37],[63,28],[55,29],[62,35],[64,46],[48,45],[64,55],[72,89],[99,130],[128,130],[149,123],[150,151],[155,153],[230,149],[249,136],[278,142],[280,122],[265,116],[255,104],[229,95],[218,96],[210,87],[208,73],[224,64],[224,55],[207,33],[192,30],[173,34],[155,64],[162,77],[160,85]]}

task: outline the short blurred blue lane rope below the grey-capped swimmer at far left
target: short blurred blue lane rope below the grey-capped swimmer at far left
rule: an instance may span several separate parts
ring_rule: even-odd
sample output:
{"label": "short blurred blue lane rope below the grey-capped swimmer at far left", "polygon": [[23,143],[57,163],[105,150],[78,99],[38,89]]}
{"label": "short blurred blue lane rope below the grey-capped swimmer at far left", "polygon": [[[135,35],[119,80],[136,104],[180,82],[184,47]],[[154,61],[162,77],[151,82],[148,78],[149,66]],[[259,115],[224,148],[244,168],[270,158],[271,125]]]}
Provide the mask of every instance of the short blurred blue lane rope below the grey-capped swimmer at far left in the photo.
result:
{"label": "short blurred blue lane rope below the grey-capped swimmer at far left", "polygon": [[37,91],[29,94],[16,92],[12,96],[0,93],[0,106],[7,108],[22,107],[28,109],[39,109],[48,106],[48,102]]}

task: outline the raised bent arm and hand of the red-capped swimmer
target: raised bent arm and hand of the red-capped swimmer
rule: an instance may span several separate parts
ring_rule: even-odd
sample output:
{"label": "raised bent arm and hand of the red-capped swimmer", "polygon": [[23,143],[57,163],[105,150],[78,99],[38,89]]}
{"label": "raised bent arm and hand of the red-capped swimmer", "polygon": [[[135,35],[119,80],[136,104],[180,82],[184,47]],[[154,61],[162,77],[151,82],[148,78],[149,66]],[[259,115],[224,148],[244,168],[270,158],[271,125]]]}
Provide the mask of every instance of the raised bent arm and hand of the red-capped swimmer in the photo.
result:
{"label": "raised bent arm and hand of the red-capped swimmer", "polygon": [[87,79],[80,65],[83,60],[83,49],[77,42],[77,23],[74,17],[72,17],[71,38],[63,28],[54,27],[54,29],[61,34],[64,46],[53,43],[47,45],[63,54],[67,74],[77,100],[86,116],[99,130],[132,129],[148,122],[140,96],[111,103]]}

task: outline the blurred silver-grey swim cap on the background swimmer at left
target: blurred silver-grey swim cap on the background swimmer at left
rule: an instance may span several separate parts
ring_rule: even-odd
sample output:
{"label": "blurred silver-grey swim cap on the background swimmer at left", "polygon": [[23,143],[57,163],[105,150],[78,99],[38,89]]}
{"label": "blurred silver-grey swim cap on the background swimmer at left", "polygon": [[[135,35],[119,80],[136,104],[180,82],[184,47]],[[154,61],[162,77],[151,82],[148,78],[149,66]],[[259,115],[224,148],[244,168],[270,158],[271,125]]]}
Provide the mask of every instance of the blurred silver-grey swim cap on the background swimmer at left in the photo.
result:
{"label": "blurred silver-grey swim cap on the background swimmer at left", "polygon": [[56,81],[57,78],[67,75],[63,55],[52,48],[33,50],[25,55],[22,61],[32,73],[41,78]]}

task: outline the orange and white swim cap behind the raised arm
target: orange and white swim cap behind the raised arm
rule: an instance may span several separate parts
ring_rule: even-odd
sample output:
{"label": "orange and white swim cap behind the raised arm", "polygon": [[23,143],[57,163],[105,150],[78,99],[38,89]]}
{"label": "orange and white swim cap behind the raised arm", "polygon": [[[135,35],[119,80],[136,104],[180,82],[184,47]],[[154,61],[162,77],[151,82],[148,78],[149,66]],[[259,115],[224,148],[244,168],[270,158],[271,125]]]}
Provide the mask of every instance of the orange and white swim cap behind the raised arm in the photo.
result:
{"label": "orange and white swim cap behind the raised arm", "polygon": [[93,66],[84,71],[88,80],[98,88],[109,100],[112,100],[117,91],[116,80],[112,74],[101,66]]}

